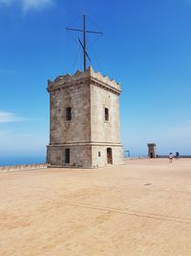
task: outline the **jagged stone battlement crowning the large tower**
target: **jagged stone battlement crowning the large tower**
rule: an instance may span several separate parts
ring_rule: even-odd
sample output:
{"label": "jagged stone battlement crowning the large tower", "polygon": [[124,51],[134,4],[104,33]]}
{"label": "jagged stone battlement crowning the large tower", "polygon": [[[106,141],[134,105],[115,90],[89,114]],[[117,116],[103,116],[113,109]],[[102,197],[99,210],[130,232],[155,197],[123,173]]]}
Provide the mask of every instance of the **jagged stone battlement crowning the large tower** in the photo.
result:
{"label": "jagged stone battlement crowning the large tower", "polygon": [[58,88],[62,88],[76,83],[84,81],[93,81],[96,84],[105,86],[107,89],[114,90],[120,94],[120,83],[115,80],[111,80],[108,76],[103,76],[100,72],[94,71],[90,66],[85,72],[77,70],[74,75],[66,74],[64,76],[58,76],[54,81],[48,81],[48,91],[52,91]]}

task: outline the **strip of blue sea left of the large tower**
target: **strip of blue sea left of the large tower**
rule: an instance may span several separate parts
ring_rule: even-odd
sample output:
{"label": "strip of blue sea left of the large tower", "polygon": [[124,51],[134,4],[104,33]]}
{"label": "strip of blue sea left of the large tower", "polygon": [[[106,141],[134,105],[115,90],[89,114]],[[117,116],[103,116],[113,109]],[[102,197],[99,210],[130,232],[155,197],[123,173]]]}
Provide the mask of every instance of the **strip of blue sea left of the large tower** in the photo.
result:
{"label": "strip of blue sea left of the large tower", "polygon": [[29,165],[37,163],[45,163],[45,155],[34,155],[34,156],[1,156],[0,155],[0,166],[9,165]]}

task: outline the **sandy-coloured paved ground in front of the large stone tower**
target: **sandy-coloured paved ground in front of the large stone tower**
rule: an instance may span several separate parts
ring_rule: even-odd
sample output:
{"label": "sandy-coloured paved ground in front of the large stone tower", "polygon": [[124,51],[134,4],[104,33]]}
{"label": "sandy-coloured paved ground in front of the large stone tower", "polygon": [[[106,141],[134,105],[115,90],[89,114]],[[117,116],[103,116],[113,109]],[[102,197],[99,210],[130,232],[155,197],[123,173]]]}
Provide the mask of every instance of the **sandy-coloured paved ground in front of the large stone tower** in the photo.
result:
{"label": "sandy-coloured paved ground in front of the large stone tower", "polygon": [[191,255],[191,159],[0,174],[0,255]]}

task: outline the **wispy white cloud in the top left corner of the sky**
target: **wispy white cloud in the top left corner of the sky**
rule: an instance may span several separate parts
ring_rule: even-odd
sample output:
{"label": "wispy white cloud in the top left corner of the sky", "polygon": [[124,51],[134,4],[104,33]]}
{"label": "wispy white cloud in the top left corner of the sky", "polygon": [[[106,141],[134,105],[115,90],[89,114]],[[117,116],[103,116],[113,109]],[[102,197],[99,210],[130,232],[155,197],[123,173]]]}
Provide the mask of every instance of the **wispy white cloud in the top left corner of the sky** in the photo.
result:
{"label": "wispy white cloud in the top left corner of the sky", "polygon": [[23,12],[40,10],[53,5],[54,0],[0,0],[0,4],[7,6],[19,5]]}

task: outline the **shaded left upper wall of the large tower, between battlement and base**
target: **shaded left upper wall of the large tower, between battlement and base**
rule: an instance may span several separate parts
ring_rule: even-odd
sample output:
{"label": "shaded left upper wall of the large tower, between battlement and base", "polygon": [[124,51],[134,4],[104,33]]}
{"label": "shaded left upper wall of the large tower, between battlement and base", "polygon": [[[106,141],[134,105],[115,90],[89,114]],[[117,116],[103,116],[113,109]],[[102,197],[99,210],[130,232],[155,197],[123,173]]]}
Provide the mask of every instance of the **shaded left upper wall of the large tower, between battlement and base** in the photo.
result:
{"label": "shaded left upper wall of the large tower, between battlement and base", "polygon": [[[72,120],[66,120],[72,107]],[[51,92],[50,144],[90,141],[90,86],[71,85]]]}

